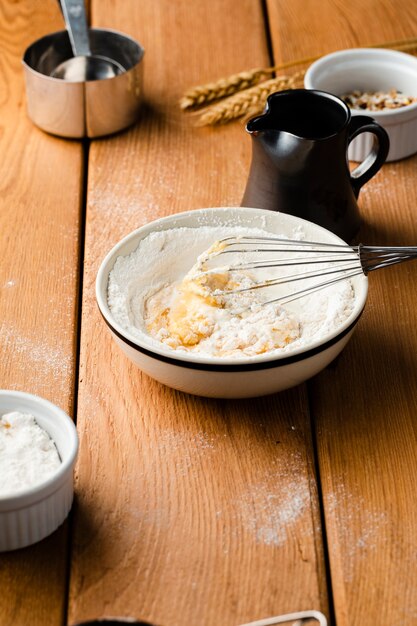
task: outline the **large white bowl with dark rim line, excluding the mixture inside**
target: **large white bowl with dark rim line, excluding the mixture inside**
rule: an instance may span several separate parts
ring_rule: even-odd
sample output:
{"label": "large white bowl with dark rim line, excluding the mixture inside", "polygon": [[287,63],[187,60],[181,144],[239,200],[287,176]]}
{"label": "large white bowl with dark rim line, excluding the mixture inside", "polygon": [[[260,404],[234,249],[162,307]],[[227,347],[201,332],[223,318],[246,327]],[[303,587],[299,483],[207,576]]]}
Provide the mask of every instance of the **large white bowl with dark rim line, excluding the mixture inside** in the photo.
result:
{"label": "large white bowl with dark rim line, excluding the mixture inside", "polygon": [[[292,215],[242,207],[198,209],[165,217],[139,228],[107,254],[96,280],[98,306],[114,340],[125,354],[146,374],[169,387],[217,398],[244,398],[281,391],[305,381],[326,367],[348,342],[365,306],[368,282],[364,275],[354,279],[354,309],[336,331],[329,332],[305,348],[278,356],[265,353],[252,357],[224,358],[178,352],[151,338],[147,340],[146,336],[138,339],[114,319],[107,302],[107,287],[109,273],[116,259],[136,250],[139,242],[153,231],[178,227],[198,228],[203,225],[241,225],[289,237],[294,236],[294,229],[302,227],[306,239],[343,243],[324,228]],[[187,255],[187,249],[184,255]],[[191,267],[195,256],[186,261]]]}

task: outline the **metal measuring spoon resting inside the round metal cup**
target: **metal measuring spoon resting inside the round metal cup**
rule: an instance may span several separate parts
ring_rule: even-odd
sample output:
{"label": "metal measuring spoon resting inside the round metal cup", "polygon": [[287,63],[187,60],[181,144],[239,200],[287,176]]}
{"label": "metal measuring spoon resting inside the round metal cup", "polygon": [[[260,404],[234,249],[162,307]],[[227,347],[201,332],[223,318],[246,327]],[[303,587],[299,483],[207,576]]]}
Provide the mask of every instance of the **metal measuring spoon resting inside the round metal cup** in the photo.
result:
{"label": "metal measuring spoon resting inside the round metal cup", "polygon": [[83,0],[61,0],[62,13],[74,56],[63,61],[51,76],[72,82],[114,78],[125,69],[113,59],[91,54]]}

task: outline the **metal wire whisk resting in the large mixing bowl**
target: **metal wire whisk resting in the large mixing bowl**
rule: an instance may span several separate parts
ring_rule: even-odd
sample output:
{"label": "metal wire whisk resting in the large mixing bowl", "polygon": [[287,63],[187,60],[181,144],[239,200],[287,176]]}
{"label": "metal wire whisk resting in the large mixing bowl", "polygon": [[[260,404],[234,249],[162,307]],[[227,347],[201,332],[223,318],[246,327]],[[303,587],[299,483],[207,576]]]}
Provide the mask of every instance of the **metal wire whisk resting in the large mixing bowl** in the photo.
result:
{"label": "metal wire whisk resting in the large mixing bowl", "polygon": [[[298,241],[280,237],[226,237],[217,242],[215,250],[209,253],[207,261],[209,263],[211,259],[230,253],[238,253],[239,256],[249,253],[251,255],[262,254],[264,258],[232,263],[223,266],[223,270],[243,271],[294,266],[298,267],[298,271],[280,275],[277,278],[268,278],[250,287],[224,291],[221,295],[287,285],[295,281],[307,281],[308,284],[303,284],[298,291],[265,302],[265,304],[271,302],[285,304],[342,280],[348,280],[360,274],[367,275],[377,269],[416,259],[417,246],[365,246],[363,244],[349,246],[348,244]],[[218,268],[209,268],[203,273],[209,274],[216,271]],[[326,277],[325,280],[322,280],[323,277]]]}

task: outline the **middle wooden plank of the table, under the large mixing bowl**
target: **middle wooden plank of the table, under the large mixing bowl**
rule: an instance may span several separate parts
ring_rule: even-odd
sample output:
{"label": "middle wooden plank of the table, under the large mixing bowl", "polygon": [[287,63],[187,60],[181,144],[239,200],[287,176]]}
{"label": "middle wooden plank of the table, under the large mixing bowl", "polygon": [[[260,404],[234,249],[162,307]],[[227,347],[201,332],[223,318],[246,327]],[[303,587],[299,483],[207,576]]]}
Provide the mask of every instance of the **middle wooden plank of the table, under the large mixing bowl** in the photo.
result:
{"label": "middle wooden plank of the table, under the large mixing bowl", "polygon": [[109,248],[159,216],[239,204],[243,124],[193,128],[182,91],[268,62],[260,4],[93,3],[93,23],[146,48],[136,128],[89,160],[70,622],[136,616],[164,626],[327,610],[303,387],[252,401],[174,392],[131,366],[94,302]]}

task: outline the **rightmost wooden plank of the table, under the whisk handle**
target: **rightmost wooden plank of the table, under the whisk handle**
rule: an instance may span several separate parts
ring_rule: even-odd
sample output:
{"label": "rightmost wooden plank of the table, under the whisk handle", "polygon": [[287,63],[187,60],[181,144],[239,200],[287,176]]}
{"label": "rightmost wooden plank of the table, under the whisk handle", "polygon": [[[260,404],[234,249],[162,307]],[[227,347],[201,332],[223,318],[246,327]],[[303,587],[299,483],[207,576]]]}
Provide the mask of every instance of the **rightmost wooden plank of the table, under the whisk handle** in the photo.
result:
{"label": "rightmost wooden plank of the table, under the whisk handle", "polygon": [[[415,35],[407,2],[269,2],[280,61]],[[378,9],[378,10],[377,10]],[[300,33],[306,37],[300,37]],[[360,196],[360,238],[416,241],[416,157],[387,164]],[[357,332],[311,384],[338,626],[417,618],[416,296],[413,266],[370,276]]]}

